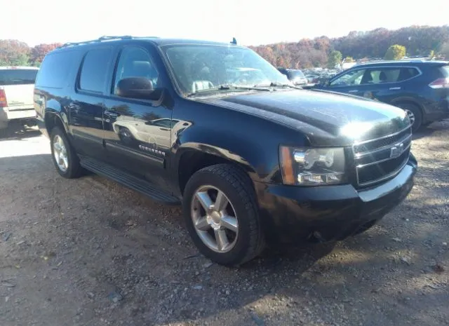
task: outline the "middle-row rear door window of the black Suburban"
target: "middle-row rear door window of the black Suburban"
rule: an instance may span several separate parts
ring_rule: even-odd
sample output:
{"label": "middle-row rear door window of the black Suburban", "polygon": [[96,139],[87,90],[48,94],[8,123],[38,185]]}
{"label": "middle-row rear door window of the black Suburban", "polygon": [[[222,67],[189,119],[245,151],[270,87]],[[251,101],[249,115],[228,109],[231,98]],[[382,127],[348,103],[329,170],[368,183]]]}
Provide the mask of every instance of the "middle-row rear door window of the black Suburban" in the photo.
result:
{"label": "middle-row rear door window of the black Suburban", "polygon": [[105,89],[111,54],[110,48],[95,48],[86,53],[79,76],[81,90],[102,93]]}

